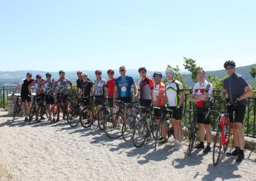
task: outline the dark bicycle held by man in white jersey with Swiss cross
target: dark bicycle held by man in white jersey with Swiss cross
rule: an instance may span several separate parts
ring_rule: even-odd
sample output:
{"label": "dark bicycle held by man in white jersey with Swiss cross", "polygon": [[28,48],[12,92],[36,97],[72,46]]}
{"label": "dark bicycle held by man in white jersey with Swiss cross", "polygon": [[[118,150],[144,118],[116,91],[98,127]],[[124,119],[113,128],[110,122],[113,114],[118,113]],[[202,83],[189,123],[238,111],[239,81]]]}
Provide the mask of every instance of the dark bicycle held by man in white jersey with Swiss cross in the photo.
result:
{"label": "dark bicycle held by man in white jersey with Swiss cross", "polygon": [[[204,113],[205,114],[205,119],[207,119],[207,117],[209,117],[209,113],[210,113],[210,110],[208,110],[207,112],[198,112],[196,110],[185,110],[185,118],[187,117],[186,116],[186,113],[191,113],[193,112],[193,121],[191,122],[190,126],[188,127],[188,130],[189,130],[189,133],[188,133],[188,138],[189,138],[189,145],[188,145],[188,156],[191,156],[191,152],[194,148],[194,145],[196,144],[196,135],[197,135],[197,132],[199,130],[198,128],[198,125],[196,124],[196,113]],[[190,117],[190,115],[189,115]]]}

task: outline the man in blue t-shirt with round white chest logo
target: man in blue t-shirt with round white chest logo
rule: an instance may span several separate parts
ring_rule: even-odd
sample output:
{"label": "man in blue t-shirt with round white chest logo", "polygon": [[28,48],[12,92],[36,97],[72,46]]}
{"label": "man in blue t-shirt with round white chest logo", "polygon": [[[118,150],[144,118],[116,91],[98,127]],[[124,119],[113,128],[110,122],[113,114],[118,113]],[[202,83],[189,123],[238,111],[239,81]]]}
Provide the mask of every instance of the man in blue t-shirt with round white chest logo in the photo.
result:
{"label": "man in blue t-shirt with round white chest logo", "polygon": [[137,85],[134,83],[134,79],[131,76],[126,75],[125,66],[120,66],[119,73],[120,76],[115,80],[115,89],[113,94],[114,104],[116,99],[123,101],[124,103],[132,103],[131,87],[134,89],[134,96],[136,98],[138,93]]}

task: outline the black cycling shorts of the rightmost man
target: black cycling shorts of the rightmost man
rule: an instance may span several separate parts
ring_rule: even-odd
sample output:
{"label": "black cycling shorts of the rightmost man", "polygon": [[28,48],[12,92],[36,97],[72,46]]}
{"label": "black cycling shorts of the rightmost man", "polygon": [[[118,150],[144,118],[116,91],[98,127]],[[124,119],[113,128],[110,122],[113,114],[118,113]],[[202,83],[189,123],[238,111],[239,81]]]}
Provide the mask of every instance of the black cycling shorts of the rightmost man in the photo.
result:
{"label": "black cycling shorts of the rightmost man", "polygon": [[[227,112],[230,113],[228,115],[230,122],[241,122],[243,124],[244,115],[245,115],[246,106],[245,105],[230,105],[227,106]],[[233,112],[235,112],[235,120],[233,119]]]}

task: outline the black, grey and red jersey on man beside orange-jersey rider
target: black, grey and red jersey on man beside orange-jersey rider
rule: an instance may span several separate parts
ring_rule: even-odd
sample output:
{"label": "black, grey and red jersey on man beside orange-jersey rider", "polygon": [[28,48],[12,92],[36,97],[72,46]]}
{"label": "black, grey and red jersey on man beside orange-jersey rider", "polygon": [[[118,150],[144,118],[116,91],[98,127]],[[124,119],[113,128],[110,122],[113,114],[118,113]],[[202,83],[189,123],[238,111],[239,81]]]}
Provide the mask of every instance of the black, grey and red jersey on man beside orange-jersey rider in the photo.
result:
{"label": "black, grey and red jersey on man beside orange-jersey rider", "polygon": [[151,99],[151,89],[154,88],[154,82],[151,78],[146,77],[138,82],[138,91],[140,91],[140,99]]}

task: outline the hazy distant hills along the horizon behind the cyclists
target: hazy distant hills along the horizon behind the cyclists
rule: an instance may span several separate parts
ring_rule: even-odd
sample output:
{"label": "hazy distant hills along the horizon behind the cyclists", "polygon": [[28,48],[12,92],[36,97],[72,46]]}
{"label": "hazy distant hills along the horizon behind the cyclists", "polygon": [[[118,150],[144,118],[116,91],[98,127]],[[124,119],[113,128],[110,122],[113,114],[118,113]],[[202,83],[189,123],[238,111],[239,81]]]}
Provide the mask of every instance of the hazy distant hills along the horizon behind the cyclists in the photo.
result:
{"label": "hazy distant hills along the horizon behind the cyclists", "polygon": [[[252,76],[250,75],[250,71],[251,71],[250,67],[251,66],[256,67],[256,64],[252,64],[249,66],[243,66],[243,67],[237,67],[236,72],[243,75],[244,78],[246,78],[246,80],[248,82],[252,83]],[[35,78],[35,76],[37,74],[41,74],[43,77],[45,77],[45,73],[47,73],[47,71],[35,71],[35,70],[0,71],[0,86],[16,85],[20,80],[22,80],[22,78],[26,78],[27,72],[31,72],[33,74],[33,78]],[[83,70],[83,72],[86,72],[88,74],[88,78],[90,78],[91,80],[95,80],[94,71]],[[148,71],[147,75],[149,77],[152,77],[154,72],[155,71]],[[52,73],[52,78],[59,77],[58,71],[51,72],[51,73]],[[164,75],[164,71],[162,71],[162,73]],[[185,75],[184,80],[185,80],[186,84],[189,87],[191,87],[193,85],[193,82],[191,80],[191,74],[186,71],[183,71],[181,73]],[[221,69],[218,71],[206,71],[206,74],[211,75],[211,76],[219,76],[219,77],[223,77],[223,76],[227,75],[225,69]],[[120,74],[119,74],[118,70],[116,69],[115,76],[119,76],[119,75]],[[138,73],[138,69],[127,69],[127,75],[132,76],[136,82],[138,82],[138,80],[140,80],[140,75]],[[66,71],[65,76],[70,78],[70,80],[72,82],[76,82],[76,80],[77,80],[76,71]],[[108,79],[107,70],[102,71],[102,77],[105,79]],[[256,86],[256,82],[254,82],[253,85]]]}

